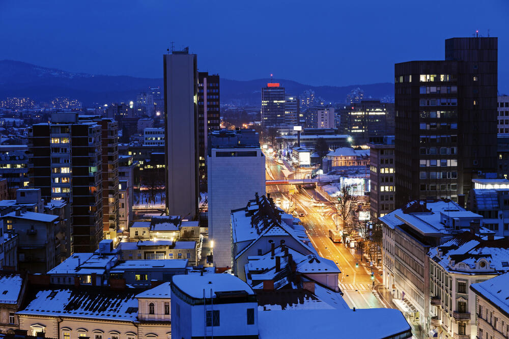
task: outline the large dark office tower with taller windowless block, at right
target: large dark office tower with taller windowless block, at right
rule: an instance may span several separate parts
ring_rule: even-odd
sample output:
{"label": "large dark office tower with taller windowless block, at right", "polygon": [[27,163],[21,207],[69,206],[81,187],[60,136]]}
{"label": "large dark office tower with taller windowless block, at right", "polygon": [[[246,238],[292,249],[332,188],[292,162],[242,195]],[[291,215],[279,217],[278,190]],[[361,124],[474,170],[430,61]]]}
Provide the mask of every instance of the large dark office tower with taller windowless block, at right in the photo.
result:
{"label": "large dark office tower with taller windowless block, at right", "polygon": [[497,38],[445,40],[444,61],[394,65],[396,207],[462,203],[472,178],[496,172]]}

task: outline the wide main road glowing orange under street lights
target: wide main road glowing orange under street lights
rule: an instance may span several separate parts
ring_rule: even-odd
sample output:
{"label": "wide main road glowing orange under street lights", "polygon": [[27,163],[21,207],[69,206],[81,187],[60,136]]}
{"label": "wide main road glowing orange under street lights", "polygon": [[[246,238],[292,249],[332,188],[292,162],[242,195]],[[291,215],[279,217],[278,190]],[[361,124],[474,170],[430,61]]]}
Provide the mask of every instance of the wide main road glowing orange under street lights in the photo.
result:
{"label": "wide main road glowing orange under street lights", "polygon": [[[289,174],[287,166],[267,156],[266,177],[267,180],[279,180],[291,178],[292,174]],[[267,186],[267,193],[270,193],[271,197],[281,199],[281,208],[289,212],[295,210],[300,215],[303,213],[299,218],[315,249],[323,258],[334,261],[341,270],[338,283],[348,305],[357,308],[388,307],[386,302],[373,292],[374,283],[381,283],[378,272],[375,272],[373,280],[369,264],[361,262],[353,249],[346,248],[342,243],[333,243],[329,238],[329,229],[335,229],[336,226],[330,217],[330,210],[319,206],[318,202],[323,201],[322,197],[314,188],[295,189],[293,194],[289,194],[289,190],[290,185]]]}

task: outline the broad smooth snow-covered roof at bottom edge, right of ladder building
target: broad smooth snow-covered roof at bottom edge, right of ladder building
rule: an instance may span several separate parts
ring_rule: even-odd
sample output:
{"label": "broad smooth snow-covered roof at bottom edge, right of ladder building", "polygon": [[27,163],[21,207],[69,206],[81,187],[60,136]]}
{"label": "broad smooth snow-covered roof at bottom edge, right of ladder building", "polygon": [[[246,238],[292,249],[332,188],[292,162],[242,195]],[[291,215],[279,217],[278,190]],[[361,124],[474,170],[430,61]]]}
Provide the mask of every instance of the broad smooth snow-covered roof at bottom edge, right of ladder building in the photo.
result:
{"label": "broad smooth snow-covered roof at bottom edge, right of ladder building", "polygon": [[[366,321],[369,319],[369,325]],[[258,311],[260,339],[345,338],[381,339],[410,331],[398,309],[299,309]]]}

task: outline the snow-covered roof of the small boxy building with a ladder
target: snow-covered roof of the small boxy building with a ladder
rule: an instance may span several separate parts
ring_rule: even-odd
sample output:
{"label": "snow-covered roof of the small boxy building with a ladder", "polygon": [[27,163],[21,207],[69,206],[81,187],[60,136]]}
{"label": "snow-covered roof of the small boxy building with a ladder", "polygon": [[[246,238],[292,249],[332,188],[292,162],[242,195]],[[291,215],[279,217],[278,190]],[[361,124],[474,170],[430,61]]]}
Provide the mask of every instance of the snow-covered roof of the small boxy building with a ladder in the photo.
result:
{"label": "snow-covered roof of the small boxy building with a ladder", "polygon": [[203,298],[204,290],[206,298],[211,297],[211,292],[212,297],[216,296],[216,292],[229,291],[245,291],[247,294],[254,294],[251,287],[240,278],[225,273],[203,276],[197,274],[175,275],[173,285],[191,298]]}

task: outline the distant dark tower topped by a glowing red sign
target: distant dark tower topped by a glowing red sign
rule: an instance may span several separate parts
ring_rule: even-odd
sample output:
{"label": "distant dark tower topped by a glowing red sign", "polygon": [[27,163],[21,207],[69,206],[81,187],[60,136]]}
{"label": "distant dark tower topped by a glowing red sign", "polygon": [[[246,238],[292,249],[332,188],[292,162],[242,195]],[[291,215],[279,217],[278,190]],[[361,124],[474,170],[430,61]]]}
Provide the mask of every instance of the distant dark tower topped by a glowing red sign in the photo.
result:
{"label": "distant dark tower topped by a glowing red sign", "polygon": [[262,126],[277,126],[285,123],[285,88],[277,82],[267,83],[262,88]]}

